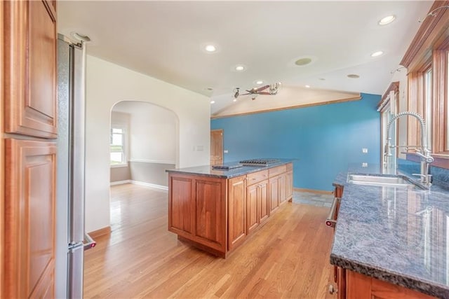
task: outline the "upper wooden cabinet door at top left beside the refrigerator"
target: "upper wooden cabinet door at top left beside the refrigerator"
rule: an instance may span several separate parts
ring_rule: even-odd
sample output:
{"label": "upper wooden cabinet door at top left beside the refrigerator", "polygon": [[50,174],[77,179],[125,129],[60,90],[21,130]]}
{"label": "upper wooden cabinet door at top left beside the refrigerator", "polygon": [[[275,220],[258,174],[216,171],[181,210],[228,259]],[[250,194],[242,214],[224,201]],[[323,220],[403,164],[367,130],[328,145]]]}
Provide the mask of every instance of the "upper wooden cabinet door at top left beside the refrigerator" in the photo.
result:
{"label": "upper wooden cabinet door at top left beside the refrigerator", "polygon": [[55,138],[55,1],[5,1],[5,132]]}

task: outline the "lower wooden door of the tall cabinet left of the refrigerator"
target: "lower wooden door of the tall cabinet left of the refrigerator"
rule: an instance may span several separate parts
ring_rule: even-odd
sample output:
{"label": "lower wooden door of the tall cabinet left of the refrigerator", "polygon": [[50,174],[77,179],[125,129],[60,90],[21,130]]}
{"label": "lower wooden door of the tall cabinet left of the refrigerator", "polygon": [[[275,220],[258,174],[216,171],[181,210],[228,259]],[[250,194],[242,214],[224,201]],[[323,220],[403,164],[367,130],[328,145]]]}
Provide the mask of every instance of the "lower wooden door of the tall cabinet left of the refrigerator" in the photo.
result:
{"label": "lower wooden door of the tall cabinet left of the refrigerator", "polygon": [[4,298],[54,298],[53,142],[6,139]]}

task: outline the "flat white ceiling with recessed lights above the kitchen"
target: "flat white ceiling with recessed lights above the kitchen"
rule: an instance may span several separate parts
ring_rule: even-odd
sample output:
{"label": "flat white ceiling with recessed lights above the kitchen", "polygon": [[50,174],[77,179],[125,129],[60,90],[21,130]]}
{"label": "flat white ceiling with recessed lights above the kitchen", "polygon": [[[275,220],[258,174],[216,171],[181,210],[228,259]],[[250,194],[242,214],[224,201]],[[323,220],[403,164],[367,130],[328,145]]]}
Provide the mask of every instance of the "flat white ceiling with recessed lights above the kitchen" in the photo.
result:
{"label": "flat white ceiling with recessed lights above the kitchen", "polygon": [[[89,55],[213,97],[217,111],[257,80],[381,95],[432,3],[59,1],[58,32],[90,36]],[[377,25],[391,14],[394,22]],[[377,50],[384,55],[370,57]],[[298,67],[300,57],[313,61]]]}

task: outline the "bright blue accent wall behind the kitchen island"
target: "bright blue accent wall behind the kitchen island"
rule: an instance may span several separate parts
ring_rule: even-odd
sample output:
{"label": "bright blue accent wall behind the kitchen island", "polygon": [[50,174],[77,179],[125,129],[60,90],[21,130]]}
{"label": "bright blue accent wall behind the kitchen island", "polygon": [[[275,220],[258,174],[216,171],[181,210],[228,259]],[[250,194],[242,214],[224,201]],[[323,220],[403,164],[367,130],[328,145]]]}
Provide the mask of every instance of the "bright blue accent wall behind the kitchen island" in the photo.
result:
{"label": "bright blue accent wall behind the kitchen island", "polygon": [[[380,162],[380,95],[246,116],[217,118],[223,130],[225,162],[249,158],[293,158],[293,186],[333,190],[349,163]],[[276,100],[276,99],[274,99]],[[368,153],[362,153],[368,148]]]}

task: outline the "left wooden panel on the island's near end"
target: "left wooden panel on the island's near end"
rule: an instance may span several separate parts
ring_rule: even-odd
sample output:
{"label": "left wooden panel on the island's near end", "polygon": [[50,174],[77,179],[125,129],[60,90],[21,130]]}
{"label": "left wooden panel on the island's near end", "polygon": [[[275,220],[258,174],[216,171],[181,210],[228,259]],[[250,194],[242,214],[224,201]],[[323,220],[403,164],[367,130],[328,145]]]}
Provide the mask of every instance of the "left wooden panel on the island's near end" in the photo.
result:
{"label": "left wooden panel on the island's near end", "polygon": [[195,197],[193,179],[170,176],[168,204],[168,230],[194,235]]}

